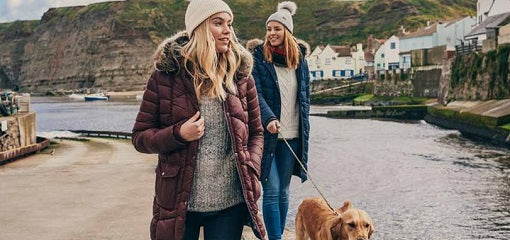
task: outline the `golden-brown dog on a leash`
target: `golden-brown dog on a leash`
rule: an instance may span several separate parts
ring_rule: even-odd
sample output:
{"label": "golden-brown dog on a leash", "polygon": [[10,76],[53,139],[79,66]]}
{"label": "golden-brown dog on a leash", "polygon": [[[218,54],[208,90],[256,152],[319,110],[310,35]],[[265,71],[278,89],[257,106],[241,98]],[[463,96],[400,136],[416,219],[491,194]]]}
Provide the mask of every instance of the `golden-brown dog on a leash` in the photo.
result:
{"label": "golden-brown dog on a leash", "polygon": [[350,201],[335,215],[321,198],[303,200],[296,215],[297,240],[368,240],[374,232],[368,214]]}

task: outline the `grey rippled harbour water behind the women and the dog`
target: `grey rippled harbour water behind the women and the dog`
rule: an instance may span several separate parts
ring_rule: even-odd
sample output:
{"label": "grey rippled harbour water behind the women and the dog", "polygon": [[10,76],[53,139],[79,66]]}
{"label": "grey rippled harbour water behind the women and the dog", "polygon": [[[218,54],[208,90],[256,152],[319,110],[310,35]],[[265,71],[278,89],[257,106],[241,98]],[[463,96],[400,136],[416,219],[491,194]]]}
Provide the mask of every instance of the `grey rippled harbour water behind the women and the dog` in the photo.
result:
{"label": "grey rippled harbour water behind the women and the dog", "polygon": [[[33,98],[40,134],[131,131],[140,102]],[[313,108],[321,110],[321,108]],[[309,170],[334,207],[344,200],[374,220],[372,239],[510,239],[510,150],[424,121],[311,117]],[[287,226],[302,199],[294,178]]]}

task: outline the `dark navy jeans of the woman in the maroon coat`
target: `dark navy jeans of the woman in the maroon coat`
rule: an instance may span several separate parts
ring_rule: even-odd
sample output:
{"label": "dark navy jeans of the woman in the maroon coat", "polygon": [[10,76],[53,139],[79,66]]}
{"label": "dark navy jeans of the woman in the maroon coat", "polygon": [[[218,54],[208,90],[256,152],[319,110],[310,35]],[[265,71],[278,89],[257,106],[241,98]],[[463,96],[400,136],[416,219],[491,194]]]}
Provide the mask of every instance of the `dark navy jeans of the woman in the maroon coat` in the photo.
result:
{"label": "dark navy jeans of the woman in the maroon coat", "polygon": [[241,239],[248,214],[245,203],[215,212],[187,212],[184,240],[198,240],[201,226],[205,240]]}

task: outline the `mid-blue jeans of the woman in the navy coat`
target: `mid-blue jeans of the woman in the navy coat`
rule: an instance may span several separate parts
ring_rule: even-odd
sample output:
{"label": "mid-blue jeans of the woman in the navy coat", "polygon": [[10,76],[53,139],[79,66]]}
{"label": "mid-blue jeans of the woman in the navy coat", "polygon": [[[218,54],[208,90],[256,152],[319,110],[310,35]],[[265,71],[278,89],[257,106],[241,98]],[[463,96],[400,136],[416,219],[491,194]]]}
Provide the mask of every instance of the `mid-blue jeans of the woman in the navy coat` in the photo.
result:
{"label": "mid-blue jeans of the woman in the navy coat", "polygon": [[[288,140],[297,154],[299,139]],[[282,239],[289,209],[289,186],[295,158],[283,140],[278,140],[267,181],[262,183],[262,213],[270,240]]]}

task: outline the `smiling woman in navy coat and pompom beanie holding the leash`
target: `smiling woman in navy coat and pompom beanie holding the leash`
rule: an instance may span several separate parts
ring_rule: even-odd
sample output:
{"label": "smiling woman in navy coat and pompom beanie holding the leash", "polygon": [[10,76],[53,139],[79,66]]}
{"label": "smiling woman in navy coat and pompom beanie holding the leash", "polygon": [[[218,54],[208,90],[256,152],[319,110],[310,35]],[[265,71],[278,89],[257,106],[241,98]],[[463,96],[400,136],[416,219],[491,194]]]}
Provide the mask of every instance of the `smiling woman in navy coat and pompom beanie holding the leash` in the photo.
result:
{"label": "smiling woman in navy coat and pompom beanie holding the leash", "polygon": [[282,2],[266,23],[264,43],[253,50],[253,78],[258,91],[264,155],[261,181],[262,210],[269,239],[281,239],[289,206],[292,175],[306,174],[296,162],[292,150],[307,166],[310,132],[310,75],[304,59],[306,44],[293,36],[293,2]]}

